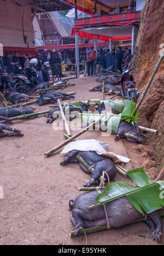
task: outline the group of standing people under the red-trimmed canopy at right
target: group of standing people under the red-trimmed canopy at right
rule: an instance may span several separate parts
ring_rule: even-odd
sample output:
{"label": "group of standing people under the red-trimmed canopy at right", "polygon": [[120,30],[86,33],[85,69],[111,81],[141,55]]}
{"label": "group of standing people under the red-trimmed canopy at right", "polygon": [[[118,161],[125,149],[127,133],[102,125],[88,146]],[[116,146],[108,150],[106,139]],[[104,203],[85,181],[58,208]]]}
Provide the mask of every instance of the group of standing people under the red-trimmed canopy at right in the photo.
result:
{"label": "group of standing people under the red-trimmed canopy at right", "polygon": [[128,67],[132,57],[131,49],[127,47],[122,50],[121,46],[117,46],[110,53],[109,49],[106,51],[103,49],[94,51],[93,46],[91,46],[90,49],[86,49],[84,76],[86,74],[87,76],[99,75],[106,72],[105,70],[122,73],[122,69]]}

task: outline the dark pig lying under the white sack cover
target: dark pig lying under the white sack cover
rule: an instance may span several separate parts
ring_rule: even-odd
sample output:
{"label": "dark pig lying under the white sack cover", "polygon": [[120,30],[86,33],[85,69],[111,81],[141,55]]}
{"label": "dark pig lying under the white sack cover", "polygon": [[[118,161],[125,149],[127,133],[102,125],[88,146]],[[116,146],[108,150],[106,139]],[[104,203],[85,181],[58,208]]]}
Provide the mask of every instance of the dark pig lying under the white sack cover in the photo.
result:
{"label": "dark pig lying under the white sack cover", "polygon": [[[94,168],[94,173],[90,173],[85,166],[79,162],[77,155],[80,155],[81,158],[90,166]],[[84,184],[83,187],[91,187],[92,185],[99,184],[98,178],[101,176],[102,171],[107,171],[110,181],[115,181],[116,168],[112,159],[107,156],[98,155],[96,152],[85,151],[80,152],[79,150],[72,150],[72,152],[67,155],[67,157],[60,163],[60,165],[67,165],[68,163],[79,164],[81,170],[87,174],[91,174],[91,179],[89,182]],[[105,178],[107,175],[105,174]]]}

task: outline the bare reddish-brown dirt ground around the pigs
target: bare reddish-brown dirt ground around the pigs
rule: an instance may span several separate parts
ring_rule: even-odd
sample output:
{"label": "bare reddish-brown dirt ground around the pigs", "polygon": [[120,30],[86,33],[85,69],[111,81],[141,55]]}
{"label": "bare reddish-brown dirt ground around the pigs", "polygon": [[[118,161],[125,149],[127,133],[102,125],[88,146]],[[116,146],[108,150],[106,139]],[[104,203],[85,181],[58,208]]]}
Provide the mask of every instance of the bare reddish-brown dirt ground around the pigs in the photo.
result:
{"label": "bare reddish-brown dirt ground around the pigs", "polygon": [[[97,84],[95,79],[95,76],[74,79],[71,83],[76,86],[64,91],[75,91],[75,101],[101,98],[101,92],[89,92]],[[35,107],[36,112],[50,109],[49,105]],[[45,117],[14,121],[10,126],[20,129],[24,137],[1,138],[0,185],[4,199],[0,200],[0,245],[85,245],[85,236],[69,236],[74,228],[69,220],[72,212],[68,211],[68,201],[82,193],[78,188],[90,177],[78,165],[60,166],[63,156],[59,153],[44,157],[45,152],[65,140],[64,131],[54,131],[52,124],[46,124]],[[89,138],[110,142],[114,153],[121,153],[122,142],[114,142],[113,135],[102,137],[99,131],[89,131],[79,137]],[[123,143],[122,153],[131,158],[128,168],[139,167],[137,144],[125,139]],[[125,178],[117,174],[116,180]],[[89,234],[87,245],[158,245],[139,235],[149,236],[144,223]],[[163,239],[160,245],[164,244]]]}

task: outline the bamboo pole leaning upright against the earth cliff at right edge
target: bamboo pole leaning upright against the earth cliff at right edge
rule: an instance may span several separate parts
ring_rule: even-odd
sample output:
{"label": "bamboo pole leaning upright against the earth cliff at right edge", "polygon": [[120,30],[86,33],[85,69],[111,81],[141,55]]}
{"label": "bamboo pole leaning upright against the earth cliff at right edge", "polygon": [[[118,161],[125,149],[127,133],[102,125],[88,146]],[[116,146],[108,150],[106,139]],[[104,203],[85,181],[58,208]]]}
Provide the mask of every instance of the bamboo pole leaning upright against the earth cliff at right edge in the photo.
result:
{"label": "bamboo pole leaning upright against the earth cliff at right edge", "polygon": [[143,100],[144,100],[144,97],[145,97],[145,95],[147,94],[147,92],[148,92],[148,90],[149,90],[149,88],[150,88],[151,83],[153,82],[153,79],[154,79],[154,77],[155,77],[155,75],[156,75],[156,73],[157,73],[157,71],[158,71],[158,69],[159,69],[159,67],[160,67],[160,65],[161,65],[161,63],[162,63],[162,61],[163,61],[163,57],[164,57],[164,51],[163,51],[163,53],[162,53],[162,55],[161,55],[159,61],[157,62],[157,65],[156,65],[156,67],[155,67],[155,69],[154,69],[153,74],[151,75],[151,77],[150,77],[150,79],[149,79],[149,82],[148,82],[148,84],[147,84],[147,86],[146,86],[146,88],[145,88],[145,90],[144,90],[144,92],[143,92],[143,95],[140,97],[140,100],[139,100],[139,102],[138,102],[136,108],[135,108],[134,111],[133,111],[133,116],[134,116],[134,117],[136,116],[137,111],[138,111],[140,105],[142,104],[142,102],[143,102]]}

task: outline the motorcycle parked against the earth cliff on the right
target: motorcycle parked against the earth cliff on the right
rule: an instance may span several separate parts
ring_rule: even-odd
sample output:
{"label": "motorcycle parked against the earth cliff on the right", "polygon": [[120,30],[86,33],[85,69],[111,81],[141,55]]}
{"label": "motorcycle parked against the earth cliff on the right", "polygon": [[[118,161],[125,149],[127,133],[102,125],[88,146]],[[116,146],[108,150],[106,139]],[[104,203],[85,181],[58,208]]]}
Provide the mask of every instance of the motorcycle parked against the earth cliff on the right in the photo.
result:
{"label": "motorcycle parked against the earth cliff on the right", "polygon": [[136,82],[133,79],[133,76],[130,75],[130,71],[133,68],[125,69],[121,74],[121,96],[125,98],[125,100],[131,100],[137,102],[137,98],[140,95],[139,92],[136,92],[138,88],[136,87]]}

